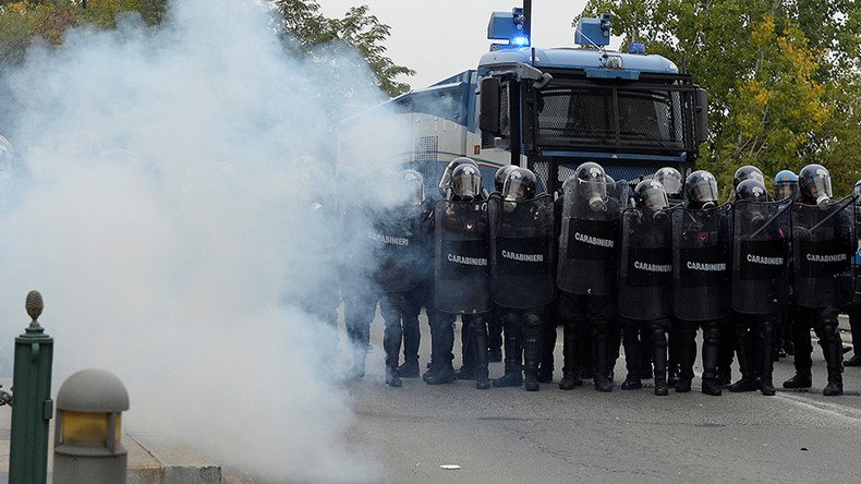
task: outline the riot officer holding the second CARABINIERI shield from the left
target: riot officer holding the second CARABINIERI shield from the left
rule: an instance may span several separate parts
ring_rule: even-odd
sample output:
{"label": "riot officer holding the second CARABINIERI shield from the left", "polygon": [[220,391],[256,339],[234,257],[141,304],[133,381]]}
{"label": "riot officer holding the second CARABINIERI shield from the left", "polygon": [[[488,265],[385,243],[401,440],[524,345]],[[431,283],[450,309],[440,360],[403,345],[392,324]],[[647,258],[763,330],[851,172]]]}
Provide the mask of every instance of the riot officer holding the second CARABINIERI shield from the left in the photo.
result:
{"label": "riot officer holding the second CARABINIERI shield from the left", "polygon": [[[487,376],[487,323],[485,315],[493,308],[489,291],[489,227],[487,201],[483,196],[481,171],[471,164],[458,166],[451,172],[449,199],[439,201],[434,210],[435,289],[437,310],[448,315],[461,315],[469,327],[469,340],[475,361],[475,387],[490,388]],[[451,324],[436,323],[435,331],[446,332],[446,348],[451,354],[453,335]],[[432,356],[442,362],[446,358]],[[428,377],[427,383],[435,383]]]}

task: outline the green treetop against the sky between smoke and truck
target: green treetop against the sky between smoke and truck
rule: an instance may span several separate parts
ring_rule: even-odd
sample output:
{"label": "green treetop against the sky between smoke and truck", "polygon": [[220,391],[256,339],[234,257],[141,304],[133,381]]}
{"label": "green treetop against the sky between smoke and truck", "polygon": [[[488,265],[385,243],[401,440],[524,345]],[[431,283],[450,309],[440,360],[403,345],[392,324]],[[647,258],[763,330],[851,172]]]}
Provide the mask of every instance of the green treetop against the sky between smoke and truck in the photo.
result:
{"label": "green treetop against the sky between smoke and truck", "polygon": [[323,60],[350,46],[359,50],[376,77],[375,84],[387,95],[393,97],[410,89],[397,77],[415,71],[386,56],[384,43],[391,27],[372,15],[367,5],[353,7],[341,19],[323,15],[316,0],[276,0],[274,5],[282,19],[286,43],[293,50]]}

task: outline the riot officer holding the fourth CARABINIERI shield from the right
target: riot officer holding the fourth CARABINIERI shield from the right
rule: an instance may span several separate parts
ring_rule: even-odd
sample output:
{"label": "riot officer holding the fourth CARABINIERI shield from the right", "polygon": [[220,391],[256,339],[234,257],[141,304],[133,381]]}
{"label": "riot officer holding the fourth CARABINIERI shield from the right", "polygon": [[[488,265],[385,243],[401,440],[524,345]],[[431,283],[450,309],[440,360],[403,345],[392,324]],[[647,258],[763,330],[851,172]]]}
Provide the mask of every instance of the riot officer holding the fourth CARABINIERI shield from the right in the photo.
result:
{"label": "riot officer holding the fourth CARABINIERI shield from the right", "polygon": [[623,318],[623,344],[628,377],[622,389],[642,388],[642,327],[646,351],[654,362],[655,395],[669,392],[667,384],[666,329],[672,315],[672,225],[667,193],[656,180],[643,180],[634,189],[636,206],[622,214],[619,261],[619,315]]}

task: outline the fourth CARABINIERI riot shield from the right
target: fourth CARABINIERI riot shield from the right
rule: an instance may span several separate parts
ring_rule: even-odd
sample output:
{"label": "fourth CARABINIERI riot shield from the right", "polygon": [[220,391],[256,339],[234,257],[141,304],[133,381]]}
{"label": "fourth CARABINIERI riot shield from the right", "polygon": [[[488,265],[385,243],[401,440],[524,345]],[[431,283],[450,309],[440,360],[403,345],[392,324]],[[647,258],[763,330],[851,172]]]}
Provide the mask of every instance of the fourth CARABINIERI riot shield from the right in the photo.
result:
{"label": "fourth CARABINIERI riot shield from the right", "polygon": [[622,213],[619,315],[655,320],[672,316],[672,223],[664,210]]}

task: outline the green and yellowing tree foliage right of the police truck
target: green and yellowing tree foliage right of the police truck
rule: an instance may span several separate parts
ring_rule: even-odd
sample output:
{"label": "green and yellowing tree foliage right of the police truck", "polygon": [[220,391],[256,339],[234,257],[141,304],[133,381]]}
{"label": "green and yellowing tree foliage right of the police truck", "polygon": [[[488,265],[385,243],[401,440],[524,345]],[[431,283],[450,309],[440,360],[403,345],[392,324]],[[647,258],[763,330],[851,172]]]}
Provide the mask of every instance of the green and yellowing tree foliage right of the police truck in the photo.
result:
{"label": "green and yellowing tree foliage right of the police truck", "polygon": [[646,44],[708,89],[703,167],[728,181],[821,162],[837,193],[861,178],[861,7],[853,0],[591,0],[623,47]]}

